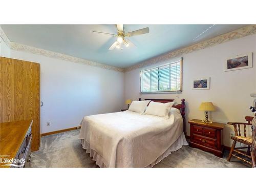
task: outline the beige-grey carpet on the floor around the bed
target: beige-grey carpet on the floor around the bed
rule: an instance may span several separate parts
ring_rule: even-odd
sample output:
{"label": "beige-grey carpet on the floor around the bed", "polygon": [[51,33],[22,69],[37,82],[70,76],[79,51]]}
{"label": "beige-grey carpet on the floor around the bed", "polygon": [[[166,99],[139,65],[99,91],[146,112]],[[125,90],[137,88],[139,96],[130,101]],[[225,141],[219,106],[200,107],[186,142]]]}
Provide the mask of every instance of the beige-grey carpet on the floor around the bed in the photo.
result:
{"label": "beige-grey carpet on the floor around the bed", "polygon": [[[80,130],[74,130],[41,138],[39,151],[33,152],[32,167],[98,167],[77,139]],[[183,146],[154,167],[250,167],[236,159],[227,162],[197,148]]]}

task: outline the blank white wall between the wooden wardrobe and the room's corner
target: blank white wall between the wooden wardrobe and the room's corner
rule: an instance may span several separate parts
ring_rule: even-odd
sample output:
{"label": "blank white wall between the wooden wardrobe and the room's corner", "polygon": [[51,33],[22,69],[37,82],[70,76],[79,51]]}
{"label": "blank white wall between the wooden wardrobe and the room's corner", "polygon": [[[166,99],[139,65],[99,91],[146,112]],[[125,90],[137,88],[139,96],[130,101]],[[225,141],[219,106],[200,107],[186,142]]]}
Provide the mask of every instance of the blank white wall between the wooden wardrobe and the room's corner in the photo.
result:
{"label": "blank white wall between the wooden wardrobe and the room's corner", "polygon": [[[120,111],[124,74],[22,51],[0,55],[40,63],[41,133],[79,125],[86,115]],[[5,49],[5,52],[8,50]],[[51,126],[46,126],[47,121]]]}

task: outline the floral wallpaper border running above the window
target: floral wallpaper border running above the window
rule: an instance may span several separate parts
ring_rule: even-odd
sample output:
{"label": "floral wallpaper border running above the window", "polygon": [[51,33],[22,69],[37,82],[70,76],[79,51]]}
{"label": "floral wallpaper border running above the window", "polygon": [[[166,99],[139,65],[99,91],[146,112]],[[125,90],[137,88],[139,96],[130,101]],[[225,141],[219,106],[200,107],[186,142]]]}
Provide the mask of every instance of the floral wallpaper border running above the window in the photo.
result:
{"label": "floral wallpaper border running above the window", "polygon": [[197,44],[194,44],[194,45],[182,48],[182,49],[178,49],[176,51],[167,52],[163,55],[159,55],[159,56],[153,57],[151,59],[144,60],[144,61],[142,61],[142,62],[140,62],[140,63],[138,63],[134,66],[124,68],[124,72],[129,72],[129,71],[132,71],[132,70],[135,70],[135,69],[139,69],[139,68],[143,68],[143,67],[146,67],[146,66],[154,65],[158,62],[163,62],[163,61],[165,61],[167,59],[170,59],[170,58],[182,56],[182,55],[187,54],[187,53],[191,53],[191,52],[198,51],[198,50],[201,50],[201,49],[205,49],[205,48],[208,48],[208,47],[216,46],[216,45],[222,44],[224,42],[231,41],[231,40],[234,40],[234,39],[238,39],[238,38],[241,38],[241,37],[245,37],[245,36],[248,36],[248,35],[251,35],[251,34],[254,34],[254,33],[256,33],[256,25],[248,25],[248,26],[245,26],[243,28],[231,31],[229,33],[225,33],[225,34],[222,34],[222,35],[219,35],[219,36],[216,36],[216,37],[198,42]]}

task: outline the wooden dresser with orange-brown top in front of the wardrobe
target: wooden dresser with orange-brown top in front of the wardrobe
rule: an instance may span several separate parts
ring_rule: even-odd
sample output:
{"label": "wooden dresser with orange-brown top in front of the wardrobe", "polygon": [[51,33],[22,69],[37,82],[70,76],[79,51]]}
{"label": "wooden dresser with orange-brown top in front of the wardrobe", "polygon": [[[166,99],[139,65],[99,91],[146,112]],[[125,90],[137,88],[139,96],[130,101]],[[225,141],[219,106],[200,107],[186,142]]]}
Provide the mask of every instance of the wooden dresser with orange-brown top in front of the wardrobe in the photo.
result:
{"label": "wooden dresser with orange-brown top in front of the wardrobe", "polygon": [[33,120],[0,123],[0,167],[31,167]]}

